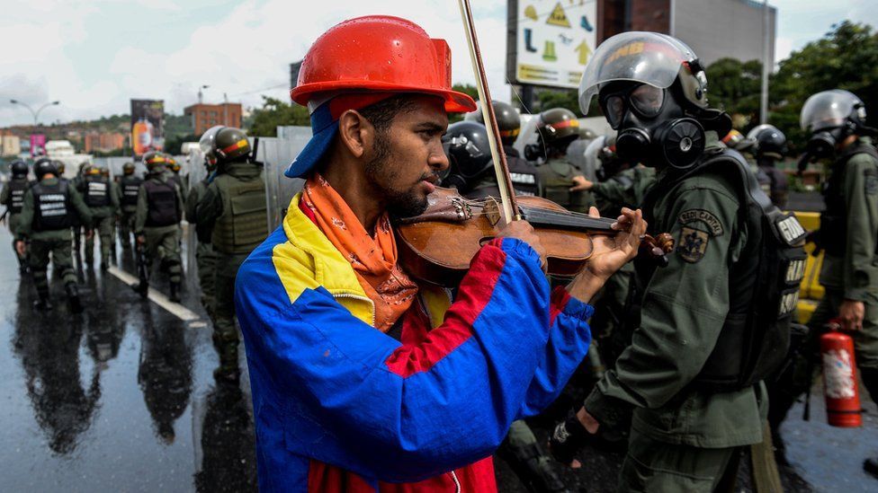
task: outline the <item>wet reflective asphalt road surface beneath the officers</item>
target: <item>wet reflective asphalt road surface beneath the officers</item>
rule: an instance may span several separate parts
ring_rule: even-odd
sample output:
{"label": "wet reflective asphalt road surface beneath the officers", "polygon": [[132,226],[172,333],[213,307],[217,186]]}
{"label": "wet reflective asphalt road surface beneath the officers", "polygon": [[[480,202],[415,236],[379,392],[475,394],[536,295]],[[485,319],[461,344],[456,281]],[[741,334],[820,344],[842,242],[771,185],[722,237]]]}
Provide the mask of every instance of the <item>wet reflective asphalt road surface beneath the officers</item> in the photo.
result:
{"label": "wet reflective asphalt road surface beneath the officers", "polygon": [[[31,309],[29,279],[19,278],[11,237],[0,231],[0,490],[254,491],[255,453],[249,383],[216,383],[210,321],[195,291],[183,304],[202,316],[182,321],[144,301],[120,279],[84,269],[85,313],[68,313],[53,283],[50,313]],[[118,251],[130,273],[134,259]],[[154,274],[153,286],[167,289]],[[815,386],[811,420],[802,403],[782,435],[787,491],[878,491],[862,461],[878,454],[878,409],[864,395],[865,426],[826,425]],[[544,440],[550,419],[534,419]],[[587,447],[579,471],[557,467],[572,491],[613,491],[623,452]],[[745,461],[746,462],[746,461]],[[500,491],[525,492],[497,460]],[[751,490],[748,468],[739,489]]]}

